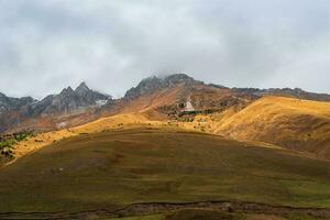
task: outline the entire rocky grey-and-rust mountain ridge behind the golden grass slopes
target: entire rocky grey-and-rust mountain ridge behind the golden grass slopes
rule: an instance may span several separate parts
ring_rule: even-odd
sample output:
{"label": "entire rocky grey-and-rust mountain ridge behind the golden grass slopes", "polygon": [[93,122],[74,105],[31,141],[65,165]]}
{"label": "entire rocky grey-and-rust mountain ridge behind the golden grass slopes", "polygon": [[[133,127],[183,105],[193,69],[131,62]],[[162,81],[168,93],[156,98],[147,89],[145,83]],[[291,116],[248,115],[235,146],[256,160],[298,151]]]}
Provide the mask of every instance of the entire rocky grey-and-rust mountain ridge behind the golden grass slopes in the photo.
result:
{"label": "entire rocky grey-and-rust mountain ridge behind the golden grass slopes", "polygon": [[[330,95],[301,89],[229,88],[216,84],[208,85],[186,74],[175,74],[145,78],[120,99],[95,91],[88,88],[86,82],[81,82],[75,90],[67,87],[58,95],[50,95],[40,101],[31,97],[18,99],[0,94],[0,132],[18,128],[19,124],[22,124],[23,129],[31,123],[33,129],[44,128],[41,124],[45,122],[36,124],[35,121],[45,120],[48,129],[58,128],[57,124],[77,125],[101,116],[144,111],[143,109],[173,118],[187,109],[187,102],[191,105],[190,109],[197,112],[219,112],[232,107],[242,109],[265,96],[330,101]],[[61,120],[57,120],[59,118]]]}

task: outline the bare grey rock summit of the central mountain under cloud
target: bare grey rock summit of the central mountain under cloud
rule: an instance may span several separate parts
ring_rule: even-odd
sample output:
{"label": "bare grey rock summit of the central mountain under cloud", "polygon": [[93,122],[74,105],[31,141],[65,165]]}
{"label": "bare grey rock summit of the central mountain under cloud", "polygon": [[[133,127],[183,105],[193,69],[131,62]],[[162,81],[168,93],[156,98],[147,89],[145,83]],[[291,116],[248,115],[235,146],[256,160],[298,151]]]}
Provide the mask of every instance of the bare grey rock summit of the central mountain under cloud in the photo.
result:
{"label": "bare grey rock summit of the central mountain under cloud", "polygon": [[175,74],[167,76],[165,78],[148,77],[143,79],[136,87],[131,88],[124,96],[124,99],[131,100],[135,99],[142,95],[151,94],[157,89],[165,89],[174,87],[178,84],[185,84],[186,86],[191,86],[194,84],[202,84],[185,74]]}

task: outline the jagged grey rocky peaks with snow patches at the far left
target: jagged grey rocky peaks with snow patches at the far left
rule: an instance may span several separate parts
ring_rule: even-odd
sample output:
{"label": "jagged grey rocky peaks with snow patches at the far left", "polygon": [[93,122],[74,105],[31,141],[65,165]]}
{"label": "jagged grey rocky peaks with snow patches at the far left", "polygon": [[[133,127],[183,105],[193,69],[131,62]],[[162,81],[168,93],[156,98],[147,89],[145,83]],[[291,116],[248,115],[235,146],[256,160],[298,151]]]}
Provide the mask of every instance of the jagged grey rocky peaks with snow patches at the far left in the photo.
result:
{"label": "jagged grey rocky peaks with snow patches at the far left", "polygon": [[61,94],[50,95],[41,101],[30,97],[8,98],[0,94],[0,132],[38,117],[61,117],[99,109],[111,100],[111,96],[94,91],[85,82],[75,90],[68,87]]}

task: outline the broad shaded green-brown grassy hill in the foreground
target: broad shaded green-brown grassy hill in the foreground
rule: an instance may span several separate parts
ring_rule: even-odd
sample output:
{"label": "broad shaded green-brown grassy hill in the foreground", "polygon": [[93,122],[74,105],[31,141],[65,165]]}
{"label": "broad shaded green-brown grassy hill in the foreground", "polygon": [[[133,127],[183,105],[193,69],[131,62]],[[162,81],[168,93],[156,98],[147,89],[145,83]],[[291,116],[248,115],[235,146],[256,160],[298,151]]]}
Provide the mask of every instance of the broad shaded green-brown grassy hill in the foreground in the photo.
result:
{"label": "broad shaded green-brown grassy hill in the foreground", "polygon": [[202,200],[330,208],[329,162],[160,129],[70,138],[1,168],[0,179],[2,213]]}

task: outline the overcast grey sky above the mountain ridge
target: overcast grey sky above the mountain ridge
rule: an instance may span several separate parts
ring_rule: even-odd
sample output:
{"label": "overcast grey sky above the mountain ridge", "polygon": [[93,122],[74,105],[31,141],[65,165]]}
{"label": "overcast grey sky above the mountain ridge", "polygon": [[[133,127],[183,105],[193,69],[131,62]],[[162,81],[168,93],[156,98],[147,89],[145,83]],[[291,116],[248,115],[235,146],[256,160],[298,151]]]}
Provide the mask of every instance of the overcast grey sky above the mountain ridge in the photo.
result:
{"label": "overcast grey sky above the mountain ridge", "polygon": [[121,97],[185,73],[330,94],[329,0],[0,0],[0,91]]}

